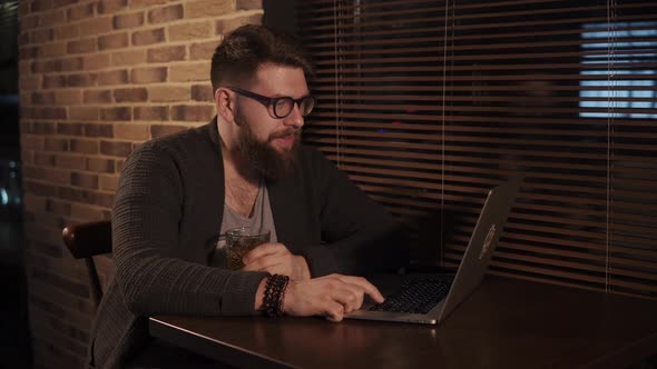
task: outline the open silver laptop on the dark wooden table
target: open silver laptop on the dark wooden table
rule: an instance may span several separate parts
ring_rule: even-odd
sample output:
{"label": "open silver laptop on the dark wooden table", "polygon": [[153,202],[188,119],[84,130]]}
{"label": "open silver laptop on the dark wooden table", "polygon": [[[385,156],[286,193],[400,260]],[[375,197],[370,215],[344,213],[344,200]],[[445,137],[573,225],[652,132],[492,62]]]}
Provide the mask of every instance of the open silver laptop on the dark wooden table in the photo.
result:
{"label": "open silver laptop on the dark wooden table", "polygon": [[514,177],[489,191],[455,275],[371,276],[367,279],[386,300],[377,305],[367,298],[360,310],[345,318],[425,325],[444,320],[483,280],[521,181]]}

